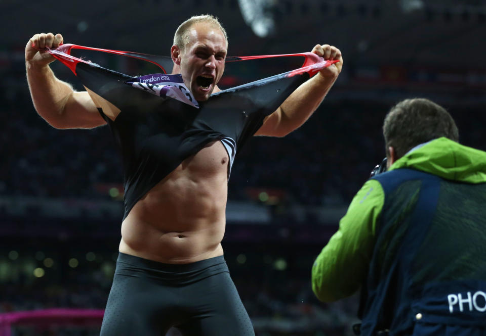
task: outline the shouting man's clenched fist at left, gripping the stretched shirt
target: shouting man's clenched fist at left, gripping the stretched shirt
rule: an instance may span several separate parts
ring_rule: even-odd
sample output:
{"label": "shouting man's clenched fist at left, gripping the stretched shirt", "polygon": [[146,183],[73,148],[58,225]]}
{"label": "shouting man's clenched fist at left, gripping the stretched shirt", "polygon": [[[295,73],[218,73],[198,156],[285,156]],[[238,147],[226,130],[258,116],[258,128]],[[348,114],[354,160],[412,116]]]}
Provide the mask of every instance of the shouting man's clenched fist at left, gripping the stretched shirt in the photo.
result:
{"label": "shouting man's clenched fist at left, gripping the stretched shirt", "polygon": [[46,47],[57,48],[62,44],[62,35],[53,33],[41,33],[32,36],[25,46],[25,61],[34,67],[44,67],[55,60],[47,51]]}

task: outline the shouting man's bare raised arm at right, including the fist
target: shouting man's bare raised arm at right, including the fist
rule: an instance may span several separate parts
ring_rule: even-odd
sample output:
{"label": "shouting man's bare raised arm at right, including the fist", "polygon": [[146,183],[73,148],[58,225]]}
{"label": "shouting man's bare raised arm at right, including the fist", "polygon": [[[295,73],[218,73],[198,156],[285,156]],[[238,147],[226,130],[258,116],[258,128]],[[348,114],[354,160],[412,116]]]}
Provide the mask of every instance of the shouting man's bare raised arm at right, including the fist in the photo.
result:
{"label": "shouting man's bare raised arm at right, including the fist", "polygon": [[317,44],[312,53],[325,60],[338,60],[300,85],[280,107],[267,116],[255,135],[285,136],[299,128],[319,107],[343,67],[341,51],[335,46]]}

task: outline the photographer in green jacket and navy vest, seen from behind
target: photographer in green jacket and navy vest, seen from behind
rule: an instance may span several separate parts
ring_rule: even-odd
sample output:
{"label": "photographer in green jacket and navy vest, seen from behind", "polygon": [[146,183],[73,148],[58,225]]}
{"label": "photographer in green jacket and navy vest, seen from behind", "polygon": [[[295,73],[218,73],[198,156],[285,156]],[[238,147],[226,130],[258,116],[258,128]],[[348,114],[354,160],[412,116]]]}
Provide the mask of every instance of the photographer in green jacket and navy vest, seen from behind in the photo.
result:
{"label": "photographer in green jacket and navy vest, seen from behind", "polygon": [[484,335],[486,153],[426,99],[385,118],[387,172],[358,191],[312,268],[321,301],[361,287],[361,335]]}

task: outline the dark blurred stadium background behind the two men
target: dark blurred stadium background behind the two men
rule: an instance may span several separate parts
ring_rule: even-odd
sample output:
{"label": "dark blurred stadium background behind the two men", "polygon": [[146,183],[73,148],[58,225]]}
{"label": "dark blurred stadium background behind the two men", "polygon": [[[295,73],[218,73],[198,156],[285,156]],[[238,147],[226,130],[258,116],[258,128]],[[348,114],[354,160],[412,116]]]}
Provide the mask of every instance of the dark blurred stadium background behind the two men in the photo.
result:
{"label": "dark blurred stadium background behind the two men", "polygon": [[[36,114],[25,43],[37,32],[59,32],[69,43],[168,56],[178,24],[206,13],[227,29],[229,56],[329,43],[344,57],[341,76],[311,119],[285,138],[252,139],[231,173],[223,248],[258,336],[352,334],[357,296],[318,302],[310,268],[383,158],[381,125],[392,104],[429,98],[451,112],[462,143],[486,150],[485,1],[3,0],[0,313],[103,309],[122,217],[120,161],[109,129],[56,130]],[[120,72],[149,71],[107,54],[89,57]],[[223,87],[294,64],[231,66]],[[79,88],[67,68],[53,68]],[[48,323],[18,326],[12,335],[98,332],[96,325]]]}

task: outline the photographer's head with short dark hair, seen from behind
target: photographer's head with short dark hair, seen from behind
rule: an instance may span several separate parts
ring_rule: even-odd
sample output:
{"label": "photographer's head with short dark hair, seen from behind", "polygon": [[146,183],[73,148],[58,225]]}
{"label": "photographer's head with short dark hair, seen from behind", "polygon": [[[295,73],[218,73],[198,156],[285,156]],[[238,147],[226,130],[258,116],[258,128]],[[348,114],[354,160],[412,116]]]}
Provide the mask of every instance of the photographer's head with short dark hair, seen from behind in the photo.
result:
{"label": "photographer's head with short dark hair, seen from behind", "polygon": [[407,99],[391,108],[383,123],[387,167],[421,143],[445,136],[459,141],[449,112],[428,99]]}

